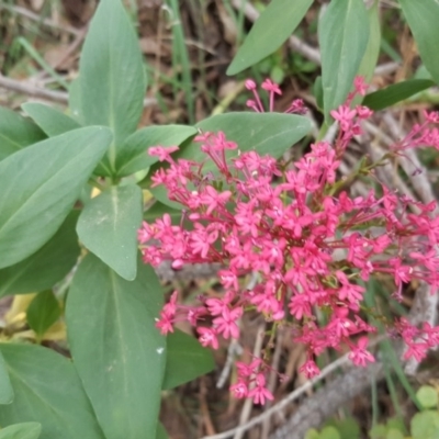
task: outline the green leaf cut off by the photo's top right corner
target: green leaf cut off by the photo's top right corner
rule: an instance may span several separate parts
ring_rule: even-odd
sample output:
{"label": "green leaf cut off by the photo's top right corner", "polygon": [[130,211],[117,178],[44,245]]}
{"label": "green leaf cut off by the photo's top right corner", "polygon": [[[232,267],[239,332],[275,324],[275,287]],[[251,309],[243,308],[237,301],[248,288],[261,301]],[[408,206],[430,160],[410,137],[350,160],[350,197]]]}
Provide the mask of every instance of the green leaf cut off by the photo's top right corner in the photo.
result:
{"label": "green leaf cut off by the photo's top right corner", "polygon": [[439,2],[438,0],[398,0],[418,46],[419,55],[439,83]]}

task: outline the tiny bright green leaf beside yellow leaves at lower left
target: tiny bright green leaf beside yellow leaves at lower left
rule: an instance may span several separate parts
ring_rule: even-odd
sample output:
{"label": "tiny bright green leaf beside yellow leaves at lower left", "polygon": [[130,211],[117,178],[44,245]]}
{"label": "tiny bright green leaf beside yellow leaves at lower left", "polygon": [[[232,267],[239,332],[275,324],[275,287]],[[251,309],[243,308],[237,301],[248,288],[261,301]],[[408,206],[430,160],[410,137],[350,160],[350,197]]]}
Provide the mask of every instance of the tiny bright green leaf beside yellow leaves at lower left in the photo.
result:
{"label": "tiny bright green leaf beside yellow leaves at lower left", "polygon": [[42,339],[46,330],[59,318],[61,309],[54,293],[43,291],[37,294],[26,311],[29,326]]}

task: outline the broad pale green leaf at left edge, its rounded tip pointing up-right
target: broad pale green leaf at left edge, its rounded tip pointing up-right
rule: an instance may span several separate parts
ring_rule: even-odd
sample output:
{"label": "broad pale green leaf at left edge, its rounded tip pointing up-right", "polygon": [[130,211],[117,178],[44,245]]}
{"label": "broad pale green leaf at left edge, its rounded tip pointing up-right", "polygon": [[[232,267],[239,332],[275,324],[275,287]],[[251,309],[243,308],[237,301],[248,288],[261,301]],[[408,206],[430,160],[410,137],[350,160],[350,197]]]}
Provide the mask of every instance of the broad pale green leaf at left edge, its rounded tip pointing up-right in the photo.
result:
{"label": "broad pale green leaf at left edge, its rounded tip pointing up-right", "polygon": [[56,233],[110,142],[106,128],[80,128],[0,161],[0,268],[20,262]]}

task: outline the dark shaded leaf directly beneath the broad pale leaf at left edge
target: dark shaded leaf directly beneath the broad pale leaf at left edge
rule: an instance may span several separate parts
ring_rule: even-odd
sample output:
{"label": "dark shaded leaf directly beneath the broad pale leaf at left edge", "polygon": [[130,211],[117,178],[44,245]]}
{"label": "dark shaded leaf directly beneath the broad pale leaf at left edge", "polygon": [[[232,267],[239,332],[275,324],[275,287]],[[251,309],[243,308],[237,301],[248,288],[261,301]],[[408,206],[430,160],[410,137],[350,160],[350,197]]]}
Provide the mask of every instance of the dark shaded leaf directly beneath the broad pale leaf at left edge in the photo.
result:
{"label": "dark shaded leaf directly beneath the broad pale leaf at left edge", "polygon": [[0,270],[0,297],[50,289],[75,266],[80,248],[75,232],[78,211],[72,211],[58,232],[35,254]]}

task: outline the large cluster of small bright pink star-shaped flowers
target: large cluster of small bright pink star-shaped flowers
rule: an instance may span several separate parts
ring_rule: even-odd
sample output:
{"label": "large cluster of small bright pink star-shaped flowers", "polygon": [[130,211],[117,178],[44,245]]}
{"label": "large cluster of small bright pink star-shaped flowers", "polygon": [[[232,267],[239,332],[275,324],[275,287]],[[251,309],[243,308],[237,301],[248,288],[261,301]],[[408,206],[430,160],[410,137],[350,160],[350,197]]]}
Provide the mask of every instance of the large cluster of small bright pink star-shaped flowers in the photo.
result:
{"label": "large cluster of small bright pink star-shaped flowers", "polygon": [[[361,81],[356,87],[362,91]],[[238,146],[223,133],[195,138],[206,155],[203,162],[175,160],[170,153],[176,147],[150,149],[169,164],[153,177],[154,185],[165,185],[169,199],[184,211],[180,225],[173,225],[168,214],[143,224],[138,240],[144,261],[156,267],[171,260],[175,269],[199,262],[224,267],[218,272],[223,294],[202,296],[194,306],[179,304],[178,293],[172,294],[157,323],[162,334],[185,319],[203,346],[217,349],[221,337],[239,338],[244,313],[258,312],[271,324],[271,334],[288,326],[293,340],[306,347],[302,371],[312,378],[319,372],[315,357],[328,348],[348,348],[357,365],[374,361],[365,335],[375,328],[365,322],[363,306],[363,285],[372,275],[393,279],[394,297],[399,300],[404,284],[414,280],[436,291],[436,204],[397,196],[376,179],[379,190],[351,196],[342,180],[337,180],[337,169],[348,143],[361,132],[361,120],[371,111],[342,105],[331,114],[340,125],[334,145],[311,145],[286,169],[255,150],[237,151]],[[438,124],[439,116],[427,114],[427,123]],[[410,139],[425,140],[426,130],[428,138],[434,136],[425,125],[415,136],[410,133]],[[233,158],[228,158],[230,150],[236,151]],[[373,177],[373,167],[368,171]],[[248,274],[258,279],[250,289],[243,282]],[[418,329],[402,319],[393,330],[408,345],[406,357],[417,360],[439,344],[438,328]],[[255,359],[237,368],[238,382],[232,386],[237,397],[262,404],[272,399],[266,389],[269,367],[264,361]]]}

